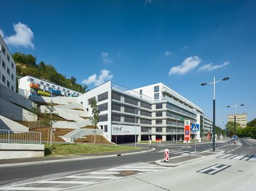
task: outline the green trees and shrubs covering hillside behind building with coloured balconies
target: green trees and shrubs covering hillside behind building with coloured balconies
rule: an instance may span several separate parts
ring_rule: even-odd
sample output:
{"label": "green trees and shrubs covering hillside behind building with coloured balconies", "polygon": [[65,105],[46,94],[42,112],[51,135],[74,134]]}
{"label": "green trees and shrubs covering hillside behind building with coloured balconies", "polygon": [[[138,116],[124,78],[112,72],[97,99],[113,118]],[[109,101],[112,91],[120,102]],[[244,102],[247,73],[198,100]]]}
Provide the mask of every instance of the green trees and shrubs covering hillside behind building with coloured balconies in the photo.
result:
{"label": "green trees and shrubs covering hillside behind building with coloured balconies", "polygon": [[36,57],[31,54],[21,54],[16,52],[12,54],[13,59],[16,62],[17,76],[33,76],[49,82],[54,82],[57,85],[61,85],[65,88],[78,91],[80,93],[86,92],[86,85],[79,85],[76,83],[75,77],[67,78],[57,72],[51,64],[45,64],[44,61],[36,64]]}

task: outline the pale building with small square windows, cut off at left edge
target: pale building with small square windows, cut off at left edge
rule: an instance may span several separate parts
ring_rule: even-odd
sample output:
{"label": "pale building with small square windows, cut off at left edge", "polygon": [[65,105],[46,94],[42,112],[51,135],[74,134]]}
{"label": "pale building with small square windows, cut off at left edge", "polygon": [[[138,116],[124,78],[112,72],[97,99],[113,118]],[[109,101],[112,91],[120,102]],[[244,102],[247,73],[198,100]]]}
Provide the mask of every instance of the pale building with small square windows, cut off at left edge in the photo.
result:
{"label": "pale building with small square windows, cut off at left edge", "polygon": [[16,64],[0,35],[0,84],[16,91]]}

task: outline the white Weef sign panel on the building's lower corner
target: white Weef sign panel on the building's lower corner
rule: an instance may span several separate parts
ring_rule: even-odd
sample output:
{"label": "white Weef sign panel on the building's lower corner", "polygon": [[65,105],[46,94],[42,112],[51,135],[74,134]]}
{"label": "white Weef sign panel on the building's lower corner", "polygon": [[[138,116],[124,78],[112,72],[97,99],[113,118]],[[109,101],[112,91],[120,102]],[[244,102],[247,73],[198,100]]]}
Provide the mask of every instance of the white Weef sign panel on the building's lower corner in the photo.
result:
{"label": "white Weef sign panel on the building's lower corner", "polygon": [[112,124],[111,131],[112,135],[135,135],[135,133],[136,135],[140,135],[141,127],[122,124]]}

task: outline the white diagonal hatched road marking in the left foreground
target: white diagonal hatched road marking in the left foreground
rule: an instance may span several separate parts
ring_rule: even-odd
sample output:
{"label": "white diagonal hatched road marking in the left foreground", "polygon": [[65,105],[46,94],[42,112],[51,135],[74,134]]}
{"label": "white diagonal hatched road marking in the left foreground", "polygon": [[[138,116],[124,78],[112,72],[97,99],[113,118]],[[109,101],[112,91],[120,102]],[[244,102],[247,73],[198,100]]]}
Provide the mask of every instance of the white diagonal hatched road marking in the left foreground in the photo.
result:
{"label": "white diagonal hatched road marking in the left foreground", "polygon": [[146,174],[152,171],[160,171],[166,168],[167,167],[165,166],[158,166],[156,164],[149,163],[132,164],[128,166],[117,166],[100,171],[74,174],[66,177],[17,184],[9,187],[0,187],[0,190],[67,190],[75,187],[84,187],[91,184],[114,181],[124,177]]}

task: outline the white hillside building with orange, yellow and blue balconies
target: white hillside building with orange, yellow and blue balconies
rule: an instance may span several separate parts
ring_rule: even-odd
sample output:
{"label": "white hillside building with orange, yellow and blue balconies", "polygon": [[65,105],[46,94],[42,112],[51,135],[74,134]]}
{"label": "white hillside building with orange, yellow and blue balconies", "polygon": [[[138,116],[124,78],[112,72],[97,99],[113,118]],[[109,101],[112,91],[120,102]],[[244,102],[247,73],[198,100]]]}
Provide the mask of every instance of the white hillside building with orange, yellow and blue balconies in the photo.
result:
{"label": "white hillside building with orange, yellow and blue balconies", "polygon": [[51,93],[54,94],[54,96],[69,97],[77,97],[82,95],[82,93],[75,90],[70,90],[52,82],[31,76],[25,76],[19,79],[18,93],[26,98],[33,95],[51,96]]}

